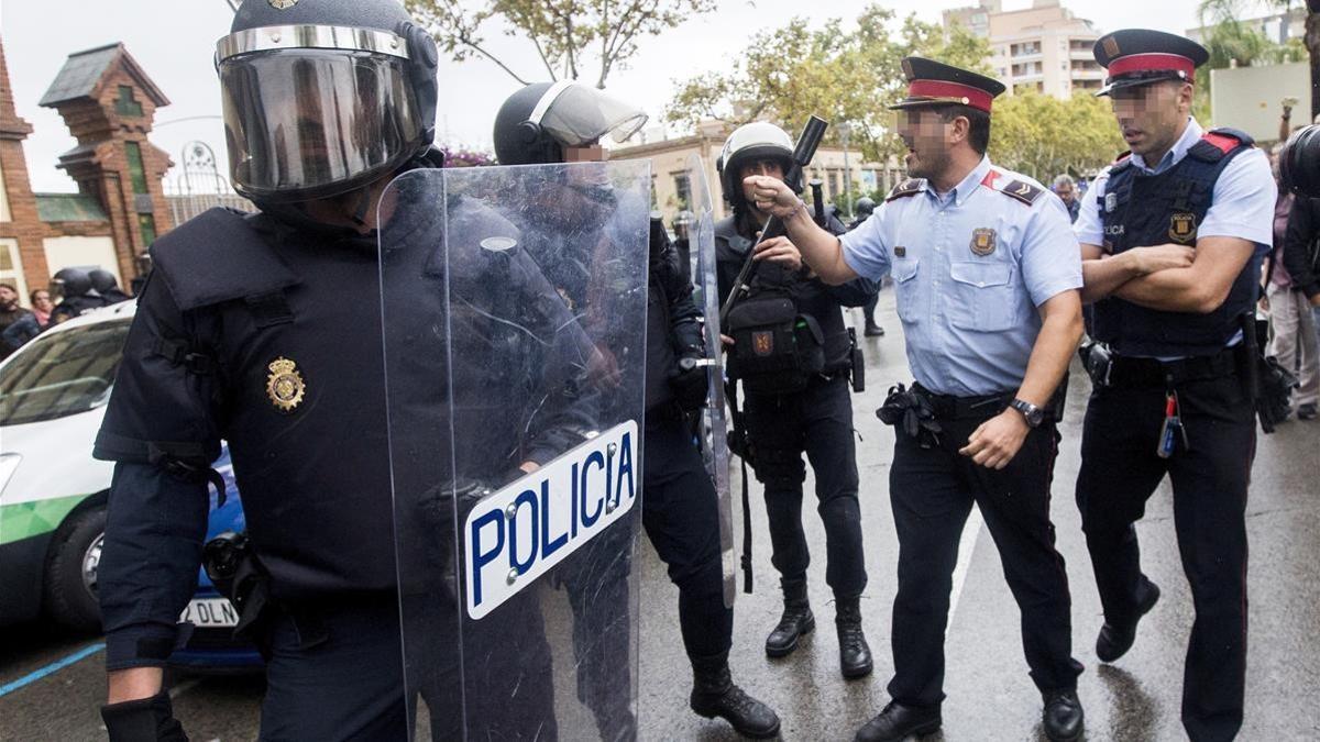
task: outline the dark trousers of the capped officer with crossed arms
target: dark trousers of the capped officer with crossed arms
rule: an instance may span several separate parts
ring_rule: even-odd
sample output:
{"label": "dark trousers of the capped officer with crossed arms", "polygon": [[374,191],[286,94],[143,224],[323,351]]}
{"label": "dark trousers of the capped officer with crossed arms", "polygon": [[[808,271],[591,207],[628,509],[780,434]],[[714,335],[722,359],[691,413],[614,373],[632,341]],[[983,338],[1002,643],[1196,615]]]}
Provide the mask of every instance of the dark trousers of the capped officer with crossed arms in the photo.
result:
{"label": "dark trousers of the capped officer with crossed arms", "polygon": [[1242,726],[1246,675],[1246,492],[1255,419],[1236,376],[1179,384],[1189,448],[1155,454],[1166,388],[1092,392],[1082,430],[1077,507],[1105,621],[1133,621],[1144,580],[1133,524],[1168,474],[1183,572],[1196,621],[1183,673],[1183,726],[1192,739],[1232,739]]}

